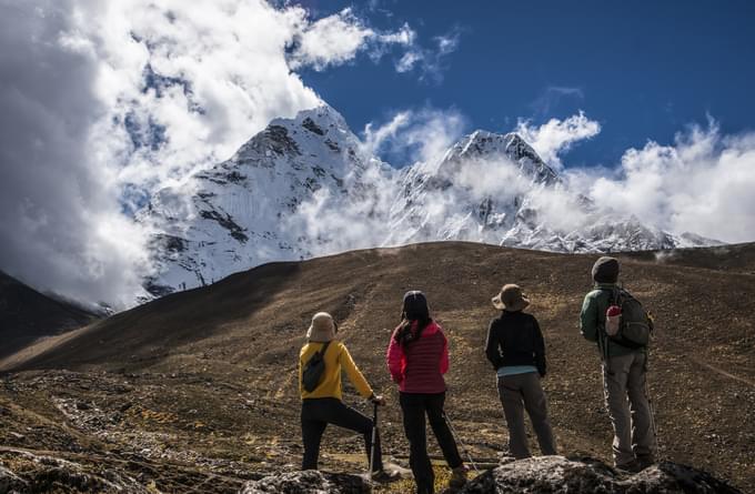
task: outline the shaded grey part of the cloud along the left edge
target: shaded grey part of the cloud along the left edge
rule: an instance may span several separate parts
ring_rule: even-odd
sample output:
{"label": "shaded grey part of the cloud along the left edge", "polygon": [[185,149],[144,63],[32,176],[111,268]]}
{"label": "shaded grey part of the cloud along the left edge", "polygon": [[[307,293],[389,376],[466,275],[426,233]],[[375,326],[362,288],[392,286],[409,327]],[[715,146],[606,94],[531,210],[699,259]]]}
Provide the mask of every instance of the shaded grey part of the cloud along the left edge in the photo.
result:
{"label": "shaded grey part of the cloud along the left edge", "polygon": [[117,171],[92,161],[89,130],[108,109],[90,47],[67,34],[72,3],[1,10],[0,268],[80,300],[132,303],[147,232],[121,213]]}

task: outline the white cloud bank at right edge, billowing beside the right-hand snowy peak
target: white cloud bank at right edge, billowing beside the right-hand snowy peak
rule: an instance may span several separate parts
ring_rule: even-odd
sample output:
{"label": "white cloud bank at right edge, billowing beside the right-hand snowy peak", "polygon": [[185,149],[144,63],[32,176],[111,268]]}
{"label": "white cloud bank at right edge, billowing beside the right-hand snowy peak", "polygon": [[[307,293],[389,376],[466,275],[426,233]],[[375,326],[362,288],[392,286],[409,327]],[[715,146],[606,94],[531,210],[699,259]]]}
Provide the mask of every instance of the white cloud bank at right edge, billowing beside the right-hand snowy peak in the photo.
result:
{"label": "white cloud bank at right edge, billowing beside the right-hand snowy peak", "polygon": [[[578,112],[540,127],[520,121],[515,131],[561,171],[571,191],[591,198],[604,218],[624,213],[675,234],[755,240],[755,196],[749,192],[755,186],[755,133],[723,135],[709,119],[706,128],[693,124],[677,133],[671,144],[648,141],[626,150],[615,167],[564,169],[561,155],[597,135],[598,122]],[[542,196],[544,204],[552,199]]]}

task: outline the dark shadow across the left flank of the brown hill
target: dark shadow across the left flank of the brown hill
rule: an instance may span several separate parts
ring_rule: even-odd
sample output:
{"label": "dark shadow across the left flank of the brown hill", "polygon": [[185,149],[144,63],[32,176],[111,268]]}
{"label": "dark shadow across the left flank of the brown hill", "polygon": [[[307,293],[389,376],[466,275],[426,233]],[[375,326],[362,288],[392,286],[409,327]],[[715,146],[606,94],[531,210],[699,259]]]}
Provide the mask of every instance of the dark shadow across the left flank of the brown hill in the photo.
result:
{"label": "dark shadow across the left flank of the brown hill", "polygon": [[93,324],[12,370],[77,369],[110,360],[140,365],[157,362],[180,346],[212,336],[229,323],[248,319],[300,270],[295,262],[264,264],[209,286],[163,296]]}

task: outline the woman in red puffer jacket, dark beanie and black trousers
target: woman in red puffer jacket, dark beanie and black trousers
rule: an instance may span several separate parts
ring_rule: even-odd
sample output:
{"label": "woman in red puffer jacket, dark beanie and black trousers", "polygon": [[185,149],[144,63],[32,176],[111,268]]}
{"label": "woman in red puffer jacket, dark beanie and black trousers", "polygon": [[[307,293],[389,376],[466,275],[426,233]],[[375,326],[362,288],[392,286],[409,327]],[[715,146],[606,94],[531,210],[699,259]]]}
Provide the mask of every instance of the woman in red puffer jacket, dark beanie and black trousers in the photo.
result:
{"label": "woman in red puffer jacket, dark beanie and black trousers", "polygon": [[430,317],[424,294],[406,292],[401,324],[393,332],[386,354],[391,377],[399,384],[404,432],[410,444],[409,463],[417,494],[433,494],[435,475],[427,456],[425,414],[452,468],[451,486],[466,482],[466,466],[443,412],[449,370],[449,342],[441,326]]}

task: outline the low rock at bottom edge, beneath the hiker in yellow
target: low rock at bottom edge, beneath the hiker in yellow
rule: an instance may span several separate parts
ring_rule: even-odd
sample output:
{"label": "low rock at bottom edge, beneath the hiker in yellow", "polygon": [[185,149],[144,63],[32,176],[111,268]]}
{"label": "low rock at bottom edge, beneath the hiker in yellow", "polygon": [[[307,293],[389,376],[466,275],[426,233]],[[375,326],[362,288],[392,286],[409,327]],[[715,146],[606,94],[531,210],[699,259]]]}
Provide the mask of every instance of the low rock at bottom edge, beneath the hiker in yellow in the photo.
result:
{"label": "low rock at bottom edge, beneath the hiker in yellow", "polygon": [[369,492],[370,486],[358,475],[308,470],[248,482],[240,494],[363,494]]}

